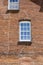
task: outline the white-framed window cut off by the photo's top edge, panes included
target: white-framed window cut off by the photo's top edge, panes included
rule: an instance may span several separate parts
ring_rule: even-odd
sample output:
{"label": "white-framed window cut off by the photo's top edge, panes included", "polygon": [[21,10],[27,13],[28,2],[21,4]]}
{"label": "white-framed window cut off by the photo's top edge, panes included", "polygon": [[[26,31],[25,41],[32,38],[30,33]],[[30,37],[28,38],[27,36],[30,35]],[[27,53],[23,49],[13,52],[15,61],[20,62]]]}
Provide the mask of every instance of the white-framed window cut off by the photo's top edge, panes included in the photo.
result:
{"label": "white-framed window cut off by the photo's top edge, panes included", "polygon": [[8,10],[19,10],[19,0],[8,0]]}

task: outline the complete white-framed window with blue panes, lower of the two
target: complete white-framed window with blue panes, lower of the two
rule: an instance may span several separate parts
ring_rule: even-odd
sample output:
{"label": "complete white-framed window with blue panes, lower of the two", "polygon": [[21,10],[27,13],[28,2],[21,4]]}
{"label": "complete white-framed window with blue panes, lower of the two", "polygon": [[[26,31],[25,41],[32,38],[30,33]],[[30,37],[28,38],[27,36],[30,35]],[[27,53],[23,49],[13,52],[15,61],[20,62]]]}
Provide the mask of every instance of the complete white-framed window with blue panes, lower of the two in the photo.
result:
{"label": "complete white-framed window with blue panes, lower of the two", "polygon": [[31,22],[22,21],[19,23],[19,41],[31,41]]}

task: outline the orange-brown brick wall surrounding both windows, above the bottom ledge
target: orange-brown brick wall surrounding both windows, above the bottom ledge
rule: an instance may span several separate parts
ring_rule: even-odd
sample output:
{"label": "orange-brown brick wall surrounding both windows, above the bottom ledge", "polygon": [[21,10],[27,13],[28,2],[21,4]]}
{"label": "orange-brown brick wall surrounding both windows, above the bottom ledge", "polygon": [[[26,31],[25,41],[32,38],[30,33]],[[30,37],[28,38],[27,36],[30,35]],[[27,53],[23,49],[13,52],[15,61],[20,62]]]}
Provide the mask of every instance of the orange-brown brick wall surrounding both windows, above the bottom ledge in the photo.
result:
{"label": "orange-brown brick wall surrounding both windows, above the bottom ledge", "polygon": [[[20,10],[8,11],[8,0],[0,0],[0,54],[43,57],[42,0],[20,0]],[[19,43],[19,20],[31,20],[32,41]]]}

